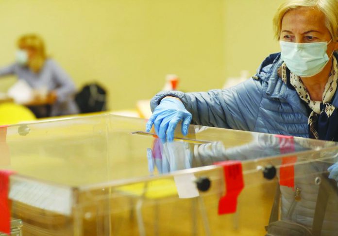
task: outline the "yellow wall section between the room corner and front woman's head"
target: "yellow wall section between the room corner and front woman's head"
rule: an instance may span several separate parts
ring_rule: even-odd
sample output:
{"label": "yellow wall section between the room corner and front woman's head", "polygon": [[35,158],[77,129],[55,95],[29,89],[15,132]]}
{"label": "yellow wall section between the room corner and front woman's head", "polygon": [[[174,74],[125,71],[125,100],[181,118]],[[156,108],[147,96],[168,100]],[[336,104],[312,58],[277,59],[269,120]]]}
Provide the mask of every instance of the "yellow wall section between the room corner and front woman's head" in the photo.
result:
{"label": "yellow wall section between the room corner and front woman's head", "polygon": [[273,38],[272,18],[284,0],[225,0],[226,77],[243,69],[254,75],[260,63],[280,51]]}

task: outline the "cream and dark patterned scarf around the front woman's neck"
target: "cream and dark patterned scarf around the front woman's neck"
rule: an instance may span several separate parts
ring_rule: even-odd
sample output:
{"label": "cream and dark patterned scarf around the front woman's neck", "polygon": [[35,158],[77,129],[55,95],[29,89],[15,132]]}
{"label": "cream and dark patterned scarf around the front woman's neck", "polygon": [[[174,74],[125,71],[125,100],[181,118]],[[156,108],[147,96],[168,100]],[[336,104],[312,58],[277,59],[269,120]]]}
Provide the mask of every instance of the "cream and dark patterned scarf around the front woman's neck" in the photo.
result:
{"label": "cream and dark patterned scarf around the front woman's neck", "polygon": [[[313,101],[310,98],[301,78],[287,69],[285,63],[279,68],[282,80],[290,83],[299,97],[307,103],[312,112],[308,118],[309,137],[322,140],[338,141],[338,109],[330,104],[336,93],[338,84],[338,63],[333,56],[332,69],[325,85],[322,101]],[[288,81],[289,73],[289,81]]]}

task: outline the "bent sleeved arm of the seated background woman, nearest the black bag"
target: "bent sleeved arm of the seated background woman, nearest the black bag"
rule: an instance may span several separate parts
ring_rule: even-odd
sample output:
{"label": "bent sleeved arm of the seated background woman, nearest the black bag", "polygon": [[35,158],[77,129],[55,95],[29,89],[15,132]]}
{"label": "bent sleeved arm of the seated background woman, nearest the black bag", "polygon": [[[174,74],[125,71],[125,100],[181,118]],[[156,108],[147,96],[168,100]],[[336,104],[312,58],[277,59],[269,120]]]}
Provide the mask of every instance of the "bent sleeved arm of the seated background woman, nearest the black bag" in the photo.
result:
{"label": "bent sleeved arm of the seated background woman, nearest the black bag", "polygon": [[56,96],[55,99],[59,102],[67,101],[76,92],[75,84],[59,65],[51,60],[49,63],[52,69],[53,79],[57,85],[57,88],[53,92],[53,94]]}

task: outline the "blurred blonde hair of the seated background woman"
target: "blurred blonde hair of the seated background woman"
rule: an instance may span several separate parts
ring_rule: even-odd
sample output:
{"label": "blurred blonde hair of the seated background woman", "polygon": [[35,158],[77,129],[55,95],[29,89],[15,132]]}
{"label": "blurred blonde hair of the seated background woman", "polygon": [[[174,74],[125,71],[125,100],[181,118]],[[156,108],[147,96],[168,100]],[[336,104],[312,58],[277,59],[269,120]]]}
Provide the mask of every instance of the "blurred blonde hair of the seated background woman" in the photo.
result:
{"label": "blurred blonde hair of the seated background woman", "polygon": [[36,34],[25,34],[17,40],[17,46],[35,51],[34,58],[31,58],[28,62],[28,67],[34,72],[38,72],[47,59],[45,43],[42,38]]}

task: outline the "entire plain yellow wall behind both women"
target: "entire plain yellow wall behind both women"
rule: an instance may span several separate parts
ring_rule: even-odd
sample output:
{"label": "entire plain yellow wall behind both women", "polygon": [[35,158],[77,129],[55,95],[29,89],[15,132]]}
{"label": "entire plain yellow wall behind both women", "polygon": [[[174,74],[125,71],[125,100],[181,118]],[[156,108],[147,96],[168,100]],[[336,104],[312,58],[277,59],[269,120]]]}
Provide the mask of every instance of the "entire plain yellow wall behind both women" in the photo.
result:
{"label": "entire plain yellow wall behind both women", "polygon": [[[151,98],[168,73],[180,89],[220,88],[278,51],[271,18],[281,0],[0,0],[0,65],[23,33],[41,34],[78,87],[97,80],[110,108]],[[3,79],[0,91],[12,84]]]}

